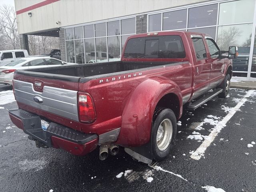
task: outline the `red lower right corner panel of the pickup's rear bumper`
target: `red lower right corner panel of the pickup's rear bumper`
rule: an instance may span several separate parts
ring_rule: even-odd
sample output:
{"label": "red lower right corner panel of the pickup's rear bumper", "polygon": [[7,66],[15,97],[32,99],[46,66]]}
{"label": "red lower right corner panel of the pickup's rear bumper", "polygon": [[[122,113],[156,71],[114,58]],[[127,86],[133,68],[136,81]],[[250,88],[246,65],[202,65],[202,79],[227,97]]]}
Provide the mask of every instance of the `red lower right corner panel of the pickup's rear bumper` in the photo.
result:
{"label": "red lower right corner panel of the pickup's rear bumper", "polygon": [[54,148],[61,148],[63,150],[70,152],[71,154],[79,156],[84,156],[92,152],[94,149],[96,149],[98,144],[98,138],[86,144],[77,144],[55,136],[52,136],[51,139]]}

